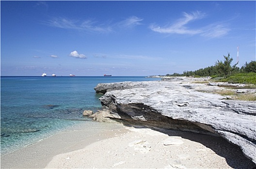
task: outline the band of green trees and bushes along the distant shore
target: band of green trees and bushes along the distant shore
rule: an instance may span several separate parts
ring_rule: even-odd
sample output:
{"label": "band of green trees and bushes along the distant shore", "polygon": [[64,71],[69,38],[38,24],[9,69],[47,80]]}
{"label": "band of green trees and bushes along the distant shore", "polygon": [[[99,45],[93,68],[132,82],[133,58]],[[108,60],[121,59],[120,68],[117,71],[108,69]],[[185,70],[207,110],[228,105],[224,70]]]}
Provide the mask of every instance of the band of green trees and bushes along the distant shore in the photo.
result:
{"label": "band of green trees and bushes along the distant shore", "polygon": [[217,60],[214,66],[195,71],[184,71],[182,74],[166,74],[166,76],[211,77],[222,82],[256,84],[256,61],[246,62],[241,69],[237,67],[238,63],[231,66],[232,61],[233,58],[228,53],[227,56],[224,56],[224,61]]}

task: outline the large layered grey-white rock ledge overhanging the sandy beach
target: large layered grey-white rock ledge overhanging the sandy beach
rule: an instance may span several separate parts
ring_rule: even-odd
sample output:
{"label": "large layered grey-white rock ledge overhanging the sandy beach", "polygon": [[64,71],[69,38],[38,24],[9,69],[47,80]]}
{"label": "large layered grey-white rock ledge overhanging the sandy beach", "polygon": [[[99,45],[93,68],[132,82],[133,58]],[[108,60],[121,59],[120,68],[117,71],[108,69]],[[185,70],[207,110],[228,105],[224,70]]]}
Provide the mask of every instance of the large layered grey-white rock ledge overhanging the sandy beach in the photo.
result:
{"label": "large layered grey-white rock ledge overhanging the sandy beach", "polygon": [[192,79],[98,84],[106,117],[150,127],[221,136],[256,163],[256,101],[228,100]]}

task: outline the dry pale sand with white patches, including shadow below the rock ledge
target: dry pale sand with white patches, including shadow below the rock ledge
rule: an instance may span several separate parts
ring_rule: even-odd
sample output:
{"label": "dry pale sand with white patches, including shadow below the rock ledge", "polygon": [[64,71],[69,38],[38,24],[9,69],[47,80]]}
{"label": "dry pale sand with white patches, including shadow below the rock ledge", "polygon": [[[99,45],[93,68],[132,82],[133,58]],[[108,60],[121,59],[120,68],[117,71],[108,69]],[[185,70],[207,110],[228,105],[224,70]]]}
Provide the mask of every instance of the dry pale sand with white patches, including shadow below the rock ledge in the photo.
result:
{"label": "dry pale sand with white patches, including shadow below the rock ledge", "polygon": [[56,155],[46,168],[250,169],[238,147],[220,137],[125,127],[126,133]]}

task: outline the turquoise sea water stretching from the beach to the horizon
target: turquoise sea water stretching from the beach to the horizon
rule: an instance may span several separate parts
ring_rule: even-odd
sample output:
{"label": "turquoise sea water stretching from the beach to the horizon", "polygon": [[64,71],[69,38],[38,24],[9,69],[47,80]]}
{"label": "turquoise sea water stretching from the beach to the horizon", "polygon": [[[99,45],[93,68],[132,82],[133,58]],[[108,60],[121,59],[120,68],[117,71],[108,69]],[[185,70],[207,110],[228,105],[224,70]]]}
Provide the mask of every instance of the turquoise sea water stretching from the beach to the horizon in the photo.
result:
{"label": "turquoise sea water stretching from the beach to the horizon", "polygon": [[152,81],[140,76],[1,77],[1,155],[91,121],[101,109],[99,83]]}

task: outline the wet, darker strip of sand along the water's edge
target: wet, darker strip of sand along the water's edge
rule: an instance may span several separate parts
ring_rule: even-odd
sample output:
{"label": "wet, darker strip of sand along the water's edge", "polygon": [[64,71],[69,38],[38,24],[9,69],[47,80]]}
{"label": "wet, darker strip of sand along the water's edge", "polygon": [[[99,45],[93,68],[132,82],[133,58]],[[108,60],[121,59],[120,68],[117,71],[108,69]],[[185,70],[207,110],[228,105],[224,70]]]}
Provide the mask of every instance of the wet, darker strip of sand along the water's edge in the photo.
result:
{"label": "wet, darker strip of sand along the water's edge", "polygon": [[45,168],[55,155],[79,150],[122,132],[126,129],[120,124],[86,121],[1,156],[1,169]]}

